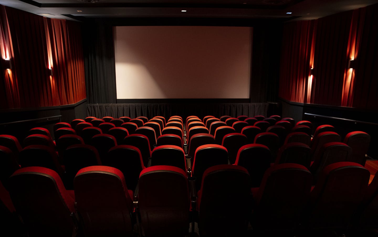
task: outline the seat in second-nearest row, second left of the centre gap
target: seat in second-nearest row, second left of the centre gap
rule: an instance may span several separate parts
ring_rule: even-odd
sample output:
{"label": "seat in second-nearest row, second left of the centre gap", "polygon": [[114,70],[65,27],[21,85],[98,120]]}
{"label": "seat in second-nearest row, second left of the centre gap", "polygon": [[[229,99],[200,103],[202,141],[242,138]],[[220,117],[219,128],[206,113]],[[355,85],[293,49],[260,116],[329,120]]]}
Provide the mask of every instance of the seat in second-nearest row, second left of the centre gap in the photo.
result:
{"label": "seat in second-nearest row, second left of the centre gap", "polygon": [[125,177],[127,188],[135,190],[139,173],[144,169],[142,154],[138,148],[129,145],[113,146],[103,165],[119,169]]}

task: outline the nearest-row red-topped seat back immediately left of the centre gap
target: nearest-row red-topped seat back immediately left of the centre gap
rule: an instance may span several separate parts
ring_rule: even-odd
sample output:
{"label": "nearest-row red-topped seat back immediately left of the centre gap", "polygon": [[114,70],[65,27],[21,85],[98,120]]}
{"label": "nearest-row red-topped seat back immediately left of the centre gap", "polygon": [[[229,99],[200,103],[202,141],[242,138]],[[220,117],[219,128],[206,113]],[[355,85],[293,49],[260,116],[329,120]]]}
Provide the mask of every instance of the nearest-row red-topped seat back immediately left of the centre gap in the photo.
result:
{"label": "nearest-row red-topped seat back immediately left of the centre gap", "polygon": [[143,169],[138,206],[144,236],[188,235],[190,205],[185,171],[166,165]]}

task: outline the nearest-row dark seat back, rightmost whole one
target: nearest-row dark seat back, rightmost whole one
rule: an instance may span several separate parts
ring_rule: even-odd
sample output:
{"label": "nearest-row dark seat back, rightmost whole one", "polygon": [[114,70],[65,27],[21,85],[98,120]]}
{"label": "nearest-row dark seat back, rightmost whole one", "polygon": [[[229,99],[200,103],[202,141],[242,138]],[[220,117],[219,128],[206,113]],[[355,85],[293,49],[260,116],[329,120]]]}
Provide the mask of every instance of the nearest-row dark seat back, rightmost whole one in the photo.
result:
{"label": "nearest-row dark seat back, rightmost whole one", "polygon": [[369,183],[370,172],[354,162],[326,166],[311,191],[312,228],[346,229],[361,203]]}

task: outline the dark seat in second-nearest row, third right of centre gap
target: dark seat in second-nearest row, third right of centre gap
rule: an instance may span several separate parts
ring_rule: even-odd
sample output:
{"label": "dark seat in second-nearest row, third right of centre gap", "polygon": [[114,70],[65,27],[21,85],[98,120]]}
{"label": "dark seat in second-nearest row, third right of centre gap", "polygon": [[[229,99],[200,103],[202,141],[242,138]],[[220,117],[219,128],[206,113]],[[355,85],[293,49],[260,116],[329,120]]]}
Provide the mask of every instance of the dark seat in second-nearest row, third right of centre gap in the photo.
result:
{"label": "dark seat in second-nearest row, third right of centre gap", "polygon": [[311,148],[300,142],[291,142],[281,146],[276,164],[295,163],[310,168]]}

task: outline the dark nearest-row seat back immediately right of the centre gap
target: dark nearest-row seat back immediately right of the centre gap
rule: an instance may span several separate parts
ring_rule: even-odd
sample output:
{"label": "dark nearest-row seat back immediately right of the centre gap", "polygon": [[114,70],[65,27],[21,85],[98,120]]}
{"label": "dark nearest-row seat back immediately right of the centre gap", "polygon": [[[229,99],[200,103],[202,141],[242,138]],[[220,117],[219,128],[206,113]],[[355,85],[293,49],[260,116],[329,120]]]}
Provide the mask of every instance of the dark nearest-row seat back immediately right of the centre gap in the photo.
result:
{"label": "dark nearest-row seat back immediately right of the centre gap", "polygon": [[237,165],[206,169],[198,191],[201,236],[245,236],[251,211],[251,178]]}

